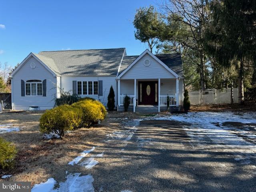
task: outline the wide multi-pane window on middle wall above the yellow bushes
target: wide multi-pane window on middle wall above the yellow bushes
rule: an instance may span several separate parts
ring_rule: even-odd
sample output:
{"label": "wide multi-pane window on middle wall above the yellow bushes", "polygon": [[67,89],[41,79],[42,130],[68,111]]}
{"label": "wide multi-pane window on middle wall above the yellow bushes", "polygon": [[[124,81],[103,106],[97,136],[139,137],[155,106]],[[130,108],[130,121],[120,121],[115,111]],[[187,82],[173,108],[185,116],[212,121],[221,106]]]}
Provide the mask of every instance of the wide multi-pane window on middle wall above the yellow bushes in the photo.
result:
{"label": "wide multi-pane window on middle wall above the yellow bushes", "polygon": [[77,94],[78,95],[98,95],[98,81],[78,81]]}

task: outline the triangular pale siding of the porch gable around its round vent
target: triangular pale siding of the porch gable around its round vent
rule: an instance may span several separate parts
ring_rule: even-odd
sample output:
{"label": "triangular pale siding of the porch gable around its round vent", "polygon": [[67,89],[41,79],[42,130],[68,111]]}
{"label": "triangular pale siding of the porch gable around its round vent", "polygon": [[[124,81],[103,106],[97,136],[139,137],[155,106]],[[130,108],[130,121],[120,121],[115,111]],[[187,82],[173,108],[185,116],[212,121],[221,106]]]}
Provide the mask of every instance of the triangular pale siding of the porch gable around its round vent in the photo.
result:
{"label": "triangular pale siding of the porch gable around its round vent", "polygon": [[[144,60],[150,60],[150,65],[145,66]],[[155,78],[175,78],[170,71],[162,66],[149,54],[145,54],[138,62],[132,66],[121,79],[155,79]]]}

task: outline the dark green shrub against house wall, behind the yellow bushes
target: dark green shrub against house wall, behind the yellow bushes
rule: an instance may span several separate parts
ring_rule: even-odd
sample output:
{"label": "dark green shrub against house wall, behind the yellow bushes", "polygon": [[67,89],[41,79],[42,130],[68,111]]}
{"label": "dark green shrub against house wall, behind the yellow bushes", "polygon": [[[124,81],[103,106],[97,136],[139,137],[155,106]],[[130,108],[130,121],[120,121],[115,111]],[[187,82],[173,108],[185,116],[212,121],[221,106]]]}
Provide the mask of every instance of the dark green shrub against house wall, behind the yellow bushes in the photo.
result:
{"label": "dark green shrub against house wall, behind the yellow bushes", "polygon": [[55,98],[55,106],[60,106],[64,104],[71,105],[75,102],[78,102],[80,96],[77,94],[71,95],[70,92],[65,92],[64,90],[60,91],[60,98]]}

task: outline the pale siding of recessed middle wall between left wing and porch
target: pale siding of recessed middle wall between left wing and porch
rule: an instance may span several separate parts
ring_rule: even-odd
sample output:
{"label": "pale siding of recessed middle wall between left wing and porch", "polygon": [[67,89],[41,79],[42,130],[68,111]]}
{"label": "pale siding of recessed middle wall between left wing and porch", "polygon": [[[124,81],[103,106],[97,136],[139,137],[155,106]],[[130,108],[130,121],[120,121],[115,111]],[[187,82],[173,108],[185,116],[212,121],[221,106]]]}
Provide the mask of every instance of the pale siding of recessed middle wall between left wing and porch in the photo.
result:
{"label": "pale siding of recessed middle wall between left wing and porch", "polygon": [[[99,96],[98,94],[87,94],[87,95],[80,95],[81,97],[91,97],[96,100],[100,100],[104,104],[104,106],[107,106],[108,103],[108,94],[110,90],[110,86],[113,86],[114,93],[115,93],[115,106],[117,104],[117,88],[116,88],[116,76],[62,76],[61,77],[61,85],[62,88],[64,88],[64,91],[70,91],[72,94],[73,90],[73,81],[81,81],[81,82],[92,82],[92,86],[94,86],[93,82],[98,82],[99,80],[102,80],[102,96]],[[87,84],[87,88],[88,84]],[[89,90],[88,92],[89,93]],[[94,90],[92,89],[92,93],[94,93]]]}

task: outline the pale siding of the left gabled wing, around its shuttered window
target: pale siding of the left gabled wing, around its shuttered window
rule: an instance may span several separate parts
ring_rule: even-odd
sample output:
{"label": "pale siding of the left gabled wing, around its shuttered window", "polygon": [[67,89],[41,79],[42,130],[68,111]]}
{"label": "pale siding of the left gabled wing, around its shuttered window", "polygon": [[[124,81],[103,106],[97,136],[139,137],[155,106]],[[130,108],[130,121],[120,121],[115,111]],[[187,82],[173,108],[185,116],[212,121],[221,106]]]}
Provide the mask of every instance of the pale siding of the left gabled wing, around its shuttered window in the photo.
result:
{"label": "pale siding of the left gabled wing, around its shuttered window", "polygon": [[[30,67],[31,63],[35,63],[36,68],[32,69]],[[33,79],[41,81],[46,79],[46,97],[21,96],[21,80],[24,80],[26,89],[26,81]],[[23,66],[21,66],[12,78],[12,100],[14,110],[28,110],[29,106],[39,106],[40,110],[52,108],[54,107],[56,93],[56,77],[32,56],[23,64]]]}

